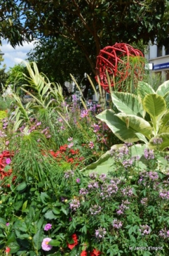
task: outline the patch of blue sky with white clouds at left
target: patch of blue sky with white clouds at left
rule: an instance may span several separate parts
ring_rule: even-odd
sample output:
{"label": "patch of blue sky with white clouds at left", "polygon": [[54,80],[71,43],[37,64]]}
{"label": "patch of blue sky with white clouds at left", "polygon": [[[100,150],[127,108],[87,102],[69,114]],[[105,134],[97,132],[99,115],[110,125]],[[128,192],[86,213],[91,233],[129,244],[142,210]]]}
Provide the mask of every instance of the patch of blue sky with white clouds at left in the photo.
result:
{"label": "patch of blue sky with white clouds at left", "polygon": [[21,63],[27,59],[27,53],[33,49],[33,42],[23,43],[23,46],[16,46],[13,48],[7,40],[2,40],[2,46],[0,46],[1,51],[3,52],[3,64],[6,64],[6,71],[9,67],[14,67],[14,65]]}

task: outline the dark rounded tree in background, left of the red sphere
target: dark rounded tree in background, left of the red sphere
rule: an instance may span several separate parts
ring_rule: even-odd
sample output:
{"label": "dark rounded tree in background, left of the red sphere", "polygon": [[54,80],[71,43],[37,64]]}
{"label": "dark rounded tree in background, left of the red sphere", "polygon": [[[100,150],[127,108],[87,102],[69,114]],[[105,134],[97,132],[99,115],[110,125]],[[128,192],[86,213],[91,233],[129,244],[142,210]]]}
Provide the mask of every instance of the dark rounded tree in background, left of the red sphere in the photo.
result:
{"label": "dark rounded tree in background, left of the red sphere", "polygon": [[64,84],[71,80],[70,73],[80,82],[85,72],[91,72],[85,54],[70,39],[42,38],[34,43],[33,50],[27,56],[28,61],[36,62],[39,71],[51,82]]}

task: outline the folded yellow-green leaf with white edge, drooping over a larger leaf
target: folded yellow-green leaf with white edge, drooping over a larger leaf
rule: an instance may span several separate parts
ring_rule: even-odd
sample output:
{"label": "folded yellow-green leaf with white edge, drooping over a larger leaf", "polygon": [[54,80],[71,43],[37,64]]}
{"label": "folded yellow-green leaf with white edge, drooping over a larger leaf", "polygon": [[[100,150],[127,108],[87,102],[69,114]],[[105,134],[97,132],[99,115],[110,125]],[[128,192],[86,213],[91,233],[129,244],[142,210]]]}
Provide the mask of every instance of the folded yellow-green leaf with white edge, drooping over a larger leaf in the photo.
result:
{"label": "folded yellow-green leaf with white edge, drooping over a larger leaf", "polygon": [[127,129],[131,129],[133,133],[142,133],[146,138],[151,138],[153,129],[148,121],[139,116],[125,115],[123,113],[116,114],[116,116],[118,116],[118,118],[127,125]]}

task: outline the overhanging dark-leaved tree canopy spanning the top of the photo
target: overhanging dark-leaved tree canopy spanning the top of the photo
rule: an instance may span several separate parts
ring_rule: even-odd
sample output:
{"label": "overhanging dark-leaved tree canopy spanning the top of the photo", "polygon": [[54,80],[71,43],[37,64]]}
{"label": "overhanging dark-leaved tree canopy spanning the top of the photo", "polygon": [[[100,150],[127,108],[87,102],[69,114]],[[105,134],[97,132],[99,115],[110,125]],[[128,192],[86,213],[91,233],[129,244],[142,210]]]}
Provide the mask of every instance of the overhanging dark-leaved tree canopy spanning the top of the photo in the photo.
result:
{"label": "overhanging dark-leaved tree canopy spanning the top of the photo", "polygon": [[70,39],[96,73],[99,50],[149,40],[168,46],[166,0],[1,0],[0,37],[12,46],[42,37]]}

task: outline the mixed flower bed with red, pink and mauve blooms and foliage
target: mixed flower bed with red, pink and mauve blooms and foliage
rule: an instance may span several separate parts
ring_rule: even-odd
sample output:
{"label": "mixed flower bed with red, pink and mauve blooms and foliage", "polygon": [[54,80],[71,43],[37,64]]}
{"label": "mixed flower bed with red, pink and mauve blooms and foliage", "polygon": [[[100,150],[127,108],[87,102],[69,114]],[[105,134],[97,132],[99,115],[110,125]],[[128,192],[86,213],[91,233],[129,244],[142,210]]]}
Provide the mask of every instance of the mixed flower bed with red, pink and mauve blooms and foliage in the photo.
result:
{"label": "mixed flower bed with red, pink and mauve blooms and foliage", "polygon": [[30,80],[38,96],[13,94],[1,125],[1,255],[168,255],[169,83],[96,116]]}

